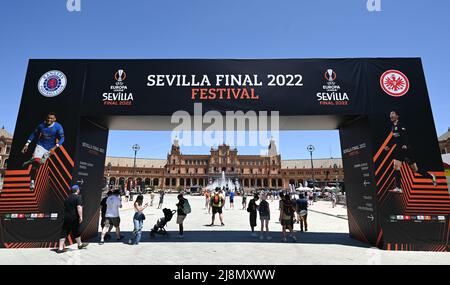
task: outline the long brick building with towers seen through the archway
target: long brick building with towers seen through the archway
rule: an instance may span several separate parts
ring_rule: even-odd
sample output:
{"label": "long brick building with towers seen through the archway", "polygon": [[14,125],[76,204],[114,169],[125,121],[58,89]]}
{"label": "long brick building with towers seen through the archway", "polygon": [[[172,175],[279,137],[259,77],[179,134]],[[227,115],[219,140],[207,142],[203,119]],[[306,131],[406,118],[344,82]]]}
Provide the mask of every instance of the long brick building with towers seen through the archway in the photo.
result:
{"label": "long brick building with towers seen through the archway", "polygon": [[[343,184],[342,160],[337,158],[314,159],[315,185]],[[106,157],[105,183],[113,187],[130,188],[135,181],[139,187],[157,189],[205,187],[225,173],[226,178],[238,181],[244,190],[289,189],[305,181],[312,182],[309,159],[282,160],[274,140],[266,155],[239,155],[236,148],[226,144],[211,148],[209,154],[183,154],[178,140],[174,140],[167,159],[136,159],[133,157]]]}

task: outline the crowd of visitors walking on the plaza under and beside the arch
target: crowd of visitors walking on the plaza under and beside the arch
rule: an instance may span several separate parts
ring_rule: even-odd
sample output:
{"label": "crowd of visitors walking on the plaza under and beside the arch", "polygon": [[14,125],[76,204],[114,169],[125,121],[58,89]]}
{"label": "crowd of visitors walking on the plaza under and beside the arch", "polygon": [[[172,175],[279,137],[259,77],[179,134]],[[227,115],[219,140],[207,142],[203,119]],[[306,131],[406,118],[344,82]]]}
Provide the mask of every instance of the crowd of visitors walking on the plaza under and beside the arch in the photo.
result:
{"label": "crowd of visitors walking on the plaza under and beside the arch", "polygon": [[[61,230],[61,239],[59,243],[58,253],[65,252],[65,240],[68,234],[72,234],[78,243],[79,249],[87,247],[87,243],[83,243],[80,238],[79,227],[82,223],[82,199],[80,196],[79,186],[72,187],[72,194],[65,202],[65,219]],[[164,204],[165,191],[160,190],[156,193],[159,195],[159,203],[157,209],[162,209]],[[334,193],[332,193],[334,194]],[[271,240],[269,235],[269,225],[272,218],[278,218],[281,224],[281,240],[286,242],[288,237],[293,242],[297,241],[297,236],[294,233],[294,225],[300,225],[300,232],[308,231],[308,206],[313,203],[315,197],[307,195],[306,192],[282,192],[282,191],[228,191],[225,188],[216,188],[214,191],[205,190],[203,196],[205,198],[204,209],[208,214],[211,214],[211,223],[208,226],[214,226],[216,215],[219,217],[220,226],[225,226],[223,209],[226,205],[228,208],[234,209],[236,196],[239,195],[242,201],[241,210],[246,210],[249,215],[249,225],[251,236],[259,238],[260,240]],[[247,199],[250,196],[250,200]],[[134,229],[128,239],[130,245],[137,245],[142,238],[142,231],[144,226],[145,214],[144,211],[148,207],[153,207],[155,193],[152,191],[149,195],[150,202],[144,203],[144,196],[138,194],[133,200],[133,225]],[[157,223],[150,232],[153,237],[156,234],[167,234],[165,226],[172,219],[176,213],[176,223],[178,224],[178,238],[184,237],[184,221],[188,214],[191,213],[191,207],[188,199],[183,193],[178,194],[176,210],[168,208],[163,209],[164,217],[158,219]],[[269,202],[278,201],[278,213],[272,214]],[[129,201],[129,197],[125,197],[125,201]],[[331,195],[332,206],[336,205],[336,195]],[[115,239],[121,241],[124,236],[120,231],[120,209],[122,208],[122,198],[120,190],[108,191],[100,203],[101,214],[101,234],[100,245],[105,241],[112,239],[110,232],[115,229]],[[273,207],[272,207],[273,208]],[[258,216],[260,222],[260,229],[258,234]]]}

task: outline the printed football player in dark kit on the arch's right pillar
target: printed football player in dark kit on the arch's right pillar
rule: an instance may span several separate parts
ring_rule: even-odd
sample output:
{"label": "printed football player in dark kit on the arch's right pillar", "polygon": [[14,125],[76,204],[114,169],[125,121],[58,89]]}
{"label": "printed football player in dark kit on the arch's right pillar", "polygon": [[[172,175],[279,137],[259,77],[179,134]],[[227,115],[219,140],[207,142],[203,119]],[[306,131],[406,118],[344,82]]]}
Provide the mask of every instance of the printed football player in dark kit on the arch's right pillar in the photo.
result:
{"label": "printed football player in dark kit on the arch's right pillar", "polygon": [[399,118],[400,116],[396,111],[390,113],[392,139],[390,140],[390,143],[386,145],[385,151],[392,150],[395,188],[389,191],[393,193],[403,193],[402,175],[400,172],[403,162],[406,162],[414,173],[419,173],[423,177],[430,179],[433,185],[436,186],[437,182],[434,174],[430,174],[425,170],[419,170],[413,156],[412,148],[409,144],[406,127],[399,121]]}

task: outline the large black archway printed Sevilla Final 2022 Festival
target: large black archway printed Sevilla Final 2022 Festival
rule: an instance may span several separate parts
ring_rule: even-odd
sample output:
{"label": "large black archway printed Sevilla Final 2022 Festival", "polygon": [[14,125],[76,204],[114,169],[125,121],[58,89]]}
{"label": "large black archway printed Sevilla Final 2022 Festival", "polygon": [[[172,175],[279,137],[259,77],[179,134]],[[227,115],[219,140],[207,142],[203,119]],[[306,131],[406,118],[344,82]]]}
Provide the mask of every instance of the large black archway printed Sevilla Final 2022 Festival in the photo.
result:
{"label": "large black archway printed Sevilla Final 2022 Festival", "polygon": [[[0,196],[1,246],[55,246],[62,201],[77,181],[83,235],[96,235],[108,130],[170,130],[180,110],[267,111],[270,120],[279,115],[281,130],[339,129],[350,236],[388,250],[448,251],[450,197],[418,58],[30,60]],[[402,148],[392,110],[407,126],[409,155],[437,185],[405,162],[403,193],[389,191]],[[49,112],[65,142],[39,167],[31,191],[31,168],[23,167],[31,151],[21,150]]]}

